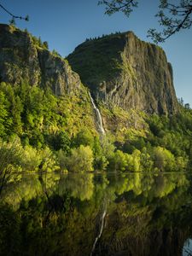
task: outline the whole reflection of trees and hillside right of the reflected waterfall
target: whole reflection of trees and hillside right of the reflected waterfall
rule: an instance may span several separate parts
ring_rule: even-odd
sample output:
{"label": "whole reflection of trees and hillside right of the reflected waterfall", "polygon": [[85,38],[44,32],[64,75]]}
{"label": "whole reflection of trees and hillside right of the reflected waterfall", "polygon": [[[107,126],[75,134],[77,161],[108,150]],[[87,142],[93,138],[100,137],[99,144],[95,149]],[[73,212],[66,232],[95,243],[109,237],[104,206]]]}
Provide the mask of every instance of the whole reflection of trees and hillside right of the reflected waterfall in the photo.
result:
{"label": "whole reflection of trees and hillside right of the reflected waterfall", "polygon": [[97,251],[105,250],[105,255],[180,255],[183,241],[192,234],[188,179],[183,173],[151,177],[137,173],[126,178],[127,186],[108,216]]}

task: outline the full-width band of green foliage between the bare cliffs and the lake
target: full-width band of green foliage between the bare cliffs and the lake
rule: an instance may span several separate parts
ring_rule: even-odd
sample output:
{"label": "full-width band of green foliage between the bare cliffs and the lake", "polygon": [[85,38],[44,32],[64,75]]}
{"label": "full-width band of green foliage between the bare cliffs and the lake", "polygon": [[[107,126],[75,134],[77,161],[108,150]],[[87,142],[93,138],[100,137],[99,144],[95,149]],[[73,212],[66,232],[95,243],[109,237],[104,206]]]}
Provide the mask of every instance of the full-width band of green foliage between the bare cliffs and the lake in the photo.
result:
{"label": "full-width band of green foliage between the bare cliffs and the lake", "polygon": [[[118,129],[115,136],[100,139],[85,90],[81,97],[56,97],[25,81],[15,86],[1,83],[0,100],[0,152],[4,159],[10,155],[1,177],[7,170],[153,172],[191,166],[191,109],[181,108],[168,118],[102,108],[108,125],[115,119]],[[134,128],[135,119],[140,130]]]}

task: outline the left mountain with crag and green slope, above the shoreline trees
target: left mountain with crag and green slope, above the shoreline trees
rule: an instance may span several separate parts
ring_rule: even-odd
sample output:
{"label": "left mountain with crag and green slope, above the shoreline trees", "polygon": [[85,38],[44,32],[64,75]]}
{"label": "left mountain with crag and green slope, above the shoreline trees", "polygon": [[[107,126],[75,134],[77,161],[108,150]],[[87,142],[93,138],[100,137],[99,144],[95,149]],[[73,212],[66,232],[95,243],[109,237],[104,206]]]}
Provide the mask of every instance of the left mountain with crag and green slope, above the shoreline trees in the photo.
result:
{"label": "left mountain with crag and green slope, above the shoreline trees", "polygon": [[61,132],[97,133],[88,90],[67,60],[40,38],[5,24],[0,24],[0,110],[0,137],[17,134],[35,146]]}

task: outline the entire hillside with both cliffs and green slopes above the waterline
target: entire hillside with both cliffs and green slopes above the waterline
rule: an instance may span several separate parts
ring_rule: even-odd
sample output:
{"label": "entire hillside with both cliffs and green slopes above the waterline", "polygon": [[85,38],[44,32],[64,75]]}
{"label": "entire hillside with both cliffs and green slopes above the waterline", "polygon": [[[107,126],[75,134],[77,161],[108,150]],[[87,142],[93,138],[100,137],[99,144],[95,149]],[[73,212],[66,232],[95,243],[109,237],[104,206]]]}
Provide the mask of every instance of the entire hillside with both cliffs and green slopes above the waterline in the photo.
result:
{"label": "entire hillside with both cliffs and green slopes above the waterline", "polygon": [[162,49],[128,32],[87,41],[68,60],[0,25],[0,188],[8,170],[190,168],[192,112],[177,103]]}

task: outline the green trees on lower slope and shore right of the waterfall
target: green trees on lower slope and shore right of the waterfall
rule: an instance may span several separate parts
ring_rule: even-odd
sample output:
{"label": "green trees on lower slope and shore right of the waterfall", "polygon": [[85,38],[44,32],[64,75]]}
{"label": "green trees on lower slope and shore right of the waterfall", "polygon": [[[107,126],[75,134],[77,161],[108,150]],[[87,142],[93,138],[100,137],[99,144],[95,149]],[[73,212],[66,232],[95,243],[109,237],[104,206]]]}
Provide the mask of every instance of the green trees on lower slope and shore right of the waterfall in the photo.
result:
{"label": "green trees on lower slope and shore right of the waterfall", "polygon": [[154,114],[145,115],[144,119],[145,127],[148,124],[148,131],[146,128],[145,132],[136,133],[132,132],[131,128],[127,129],[120,141],[119,137],[116,137],[115,145],[124,154],[119,153],[119,150],[112,153],[108,157],[108,169],[119,168],[131,172],[190,169],[192,111],[182,108],[180,113],[170,117]]}

